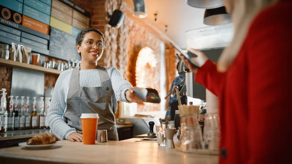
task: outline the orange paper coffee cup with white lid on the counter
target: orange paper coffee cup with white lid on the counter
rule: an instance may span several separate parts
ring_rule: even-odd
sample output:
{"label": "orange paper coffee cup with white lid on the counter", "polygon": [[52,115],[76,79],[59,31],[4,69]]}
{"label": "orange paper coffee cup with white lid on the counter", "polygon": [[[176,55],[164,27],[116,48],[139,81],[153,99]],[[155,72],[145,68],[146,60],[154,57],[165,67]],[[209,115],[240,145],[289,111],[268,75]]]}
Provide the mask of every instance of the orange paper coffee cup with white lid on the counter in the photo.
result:
{"label": "orange paper coffee cup with white lid on the counter", "polygon": [[96,139],[98,114],[82,113],[81,114],[82,136],[84,145],[94,145]]}

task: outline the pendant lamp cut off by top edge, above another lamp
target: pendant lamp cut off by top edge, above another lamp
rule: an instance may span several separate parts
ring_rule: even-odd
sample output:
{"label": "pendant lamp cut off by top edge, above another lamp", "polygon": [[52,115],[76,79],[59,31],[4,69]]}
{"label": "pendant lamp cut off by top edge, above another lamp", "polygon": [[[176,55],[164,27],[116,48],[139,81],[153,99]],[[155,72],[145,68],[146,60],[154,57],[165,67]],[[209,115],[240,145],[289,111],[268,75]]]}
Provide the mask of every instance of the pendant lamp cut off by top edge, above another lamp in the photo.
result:
{"label": "pendant lamp cut off by top edge, above another lamp", "polygon": [[192,7],[213,9],[223,6],[222,0],[185,0],[186,3]]}

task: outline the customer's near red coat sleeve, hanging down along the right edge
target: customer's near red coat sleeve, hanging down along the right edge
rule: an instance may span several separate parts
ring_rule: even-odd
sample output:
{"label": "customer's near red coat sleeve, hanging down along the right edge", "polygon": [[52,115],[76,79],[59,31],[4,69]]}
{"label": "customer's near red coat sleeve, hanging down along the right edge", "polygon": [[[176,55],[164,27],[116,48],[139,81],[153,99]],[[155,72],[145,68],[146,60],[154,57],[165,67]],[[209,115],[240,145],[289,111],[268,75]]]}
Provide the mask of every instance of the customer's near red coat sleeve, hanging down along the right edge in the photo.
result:
{"label": "customer's near red coat sleeve, hanging down along the right edge", "polygon": [[288,104],[292,102],[288,86],[292,84],[288,63],[292,60],[289,3],[259,14],[246,38],[249,164],[288,164],[292,159],[288,154],[292,148],[292,110]]}

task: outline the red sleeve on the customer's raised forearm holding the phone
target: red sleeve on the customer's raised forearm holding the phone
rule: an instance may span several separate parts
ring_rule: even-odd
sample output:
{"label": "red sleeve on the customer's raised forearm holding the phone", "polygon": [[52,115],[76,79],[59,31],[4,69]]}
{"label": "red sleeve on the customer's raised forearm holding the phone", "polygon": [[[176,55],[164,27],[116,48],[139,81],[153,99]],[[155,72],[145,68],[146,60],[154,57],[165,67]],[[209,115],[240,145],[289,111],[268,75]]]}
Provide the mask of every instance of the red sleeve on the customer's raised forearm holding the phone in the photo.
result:
{"label": "red sleeve on the customer's raised forearm holding the phone", "polygon": [[196,73],[195,81],[220,97],[224,88],[225,77],[226,73],[219,73],[217,66],[211,60],[207,60]]}

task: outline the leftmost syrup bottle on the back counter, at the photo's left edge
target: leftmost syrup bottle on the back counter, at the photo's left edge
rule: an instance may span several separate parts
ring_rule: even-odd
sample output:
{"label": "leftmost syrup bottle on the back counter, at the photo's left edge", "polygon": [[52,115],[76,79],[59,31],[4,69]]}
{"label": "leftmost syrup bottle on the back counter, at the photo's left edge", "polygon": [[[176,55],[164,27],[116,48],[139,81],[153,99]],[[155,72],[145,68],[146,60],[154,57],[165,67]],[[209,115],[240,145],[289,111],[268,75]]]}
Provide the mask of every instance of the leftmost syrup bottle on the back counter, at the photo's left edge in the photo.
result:
{"label": "leftmost syrup bottle on the back counter, at the photo's left edge", "polygon": [[2,97],[0,100],[0,117],[1,117],[1,125],[0,125],[0,132],[4,133],[7,131],[7,124],[8,124],[8,112],[6,110],[6,89],[3,88],[2,90]]}

